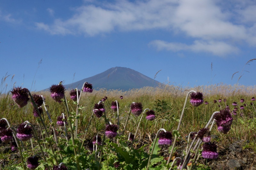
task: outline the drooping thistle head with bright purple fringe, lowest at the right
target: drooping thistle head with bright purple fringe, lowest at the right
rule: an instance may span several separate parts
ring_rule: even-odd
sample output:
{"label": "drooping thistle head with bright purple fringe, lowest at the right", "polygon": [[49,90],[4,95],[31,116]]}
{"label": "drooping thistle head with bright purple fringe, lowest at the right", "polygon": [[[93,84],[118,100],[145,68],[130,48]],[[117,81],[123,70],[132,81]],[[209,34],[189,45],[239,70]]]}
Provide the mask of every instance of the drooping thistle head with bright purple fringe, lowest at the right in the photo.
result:
{"label": "drooping thistle head with bright purple fringe, lowest at the right", "polygon": [[213,142],[203,144],[202,157],[205,159],[216,159],[219,154],[217,152],[217,145]]}

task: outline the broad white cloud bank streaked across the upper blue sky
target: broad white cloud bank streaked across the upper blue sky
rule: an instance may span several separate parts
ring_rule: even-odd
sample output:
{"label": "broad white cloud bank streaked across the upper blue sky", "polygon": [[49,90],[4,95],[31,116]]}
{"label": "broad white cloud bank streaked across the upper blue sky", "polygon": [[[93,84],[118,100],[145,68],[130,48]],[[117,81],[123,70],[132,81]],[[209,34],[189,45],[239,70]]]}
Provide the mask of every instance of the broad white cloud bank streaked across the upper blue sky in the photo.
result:
{"label": "broad white cloud bank streaked across the upper blue sky", "polygon": [[[256,5],[246,0],[234,1],[232,7],[218,0],[117,0],[114,3],[84,1],[69,19],[55,19],[52,24],[36,23],[51,34],[95,36],[116,31],[164,29],[194,39],[192,45],[158,42],[157,48],[172,51],[207,51],[214,55],[237,52],[236,44],[256,46],[254,32]],[[93,2],[89,4],[86,2]],[[249,6],[249,4],[251,6]],[[237,18],[237,19],[234,19]],[[248,23],[250,22],[250,26]],[[161,42],[161,43],[160,43]],[[164,42],[164,43],[163,43]],[[159,44],[162,44],[161,47]],[[165,47],[168,44],[168,47]]]}

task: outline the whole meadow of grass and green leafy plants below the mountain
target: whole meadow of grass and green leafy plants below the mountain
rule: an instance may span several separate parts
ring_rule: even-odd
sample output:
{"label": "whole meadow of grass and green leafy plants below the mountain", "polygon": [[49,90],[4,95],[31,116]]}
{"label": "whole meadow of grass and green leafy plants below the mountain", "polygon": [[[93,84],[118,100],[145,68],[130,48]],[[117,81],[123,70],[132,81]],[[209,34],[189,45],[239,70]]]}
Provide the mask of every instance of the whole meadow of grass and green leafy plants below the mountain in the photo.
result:
{"label": "whole meadow of grass and green leafy plants below the mountain", "polygon": [[[188,99],[180,129],[175,131],[179,125],[186,95],[191,90],[202,92],[204,95],[204,102],[207,101],[208,104],[202,103],[200,106],[194,107],[190,104],[190,99]],[[34,94],[34,92],[31,93]],[[222,134],[218,131],[216,125],[214,125],[211,130],[211,141],[214,141],[217,144],[219,157],[213,160],[207,160],[200,157],[194,168],[215,169],[218,166],[227,166],[230,168],[230,155],[233,155],[234,160],[239,158],[238,161],[240,161],[241,159],[240,169],[255,168],[256,162],[255,159],[252,158],[255,158],[256,152],[256,101],[252,101],[252,97],[256,97],[256,86],[210,85],[191,88],[161,85],[157,88],[144,87],[142,89],[132,89],[125,92],[121,90],[93,89],[92,93],[82,93],[81,100],[79,101],[78,116],[76,116],[77,102],[70,99],[69,91],[66,90],[65,92],[67,106],[65,105],[65,101],[60,103],[55,102],[51,97],[51,92],[35,93],[43,95],[45,98],[46,108],[52,119],[52,125],[55,126],[57,131],[60,150],[57,149],[57,144],[54,144],[53,130],[50,128],[51,122],[49,121],[43,106],[44,113],[42,114],[42,117],[46,129],[48,129],[50,133],[50,136],[46,136],[44,140],[42,140],[42,132],[40,133],[40,128],[38,127],[41,120],[33,115],[34,107],[30,104],[31,102],[28,102],[26,106],[20,108],[12,100],[11,93],[2,93],[0,96],[0,118],[6,118],[11,126],[16,129],[20,123],[25,121],[29,121],[29,123],[36,127],[39,138],[41,138],[39,140],[41,141],[42,146],[44,146],[43,152],[46,157],[48,156],[46,162],[42,158],[39,158],[40,165],[37,169],[43,169],[43,167],[46,167],[46,164],[50,167],[53,164],[56,165],[60,162],[64,162],[69,169],[78,169],[78,166],[80,166],[79,168],[81,169],[177,169],[177,166],[175,165],[171,167],[172,161],[175,159],[173,156],[181,157],[182,153],[186,151],[187,143],[188,146],[190,145],[190,142],[187,141],[189,133],[198,132],[200,129],[204,128],[214,112],[225,109],[227,106],[229,107],[231,114],[234,108],[237,108],[236,115],[232,114],[233,122],[230,130],[227,134]],[[120,99],[120,96],[123,96],[123,99]],[[106,100],[102,102],[106,110],[105,114],[97,117],[93,115],[93,107],[95,106],[95,103],[98,103],[104,97],[107,97],[107,99],[105,98]],[[240,99],[244,99],[244,102],[240,102]],[[119,118],[117,112],[111,109],[112,101],[116,100],[119,105]],[[216,101],[214,102],[214,100]],[[132,102],[140,102],[143,106],[143,110],[146,108],[154,110],[155,119],[148,121],[145,118],[146,116],[142,115],[143,117],[140,122],[141,115],[136,116],[130,114],[128,120],[127,117]],[[237,106],[233,106],[233,102],[237,102]],[[242,109],[241,106],[244,108]],[[67,119],[68,132],[67,137],[65,137],[64,128],[57,126],[56,122],[58,116],[61,116],[62,113],[67,116],[67,107],[70,116],[68,116],[69,118]],[[78,121],[77,125],[75,123],[76,119]],[[128,120],[128,123],[125,127],[126,120]],[[72,129],[70,129],[68,121],[71,122]],[[111,122],[111,124],[119,123],[118,135],[110,139],[106,137],[105,139],[105,128],[106,124],[109,122]],[[139,122],[140,125],[137,135],[134,141],[131,142],[128,140],[129,133],[131,132],[132,134],[135,134]],[[75,127],[77,127],[77,135],[73,141],[71,133],[75,134]],[[161,128],[172,132],[172,143],[174,136],[177,136],[177,145],[172,154],[171,163],[168,166],[166,165],[166,162],[172,149],[172,145],[160,146],[156,144],[155,149],[152,149],[156,133]],[[42,131],[44,131],[43,136],[46,135],[44,127]],[[90,151],[90,143],[96,135],[101,136],[103,144],[99,144],[98,151]],[[26,159],[29,156],[35,155],[35,153],[42,157],[42,152],[34,136],[35,134],[33,134],[33,140],[31,140],[34,145],[33,149],[31,148],[29,140],[23,142],[24,148],[20,146],[20,149],[23,149],[24,162],[26,162]],[[71,139],[73,143],[71,142]],[[55,153],[49,149],[49,141],[53,143],[53,150]],[[83,145],[81,145],[81,143],[83,143]],[[229,153],[231,152],[229,148],[230,146],[233,146],[234,143],[238,144],[238,148],[242,149],[239,153],[234,151],[235,155]],[[8,144],[5,144],[4,142],[0,144],[0,148],[6,148],[7,146]],[[73,150],[76,152],[75,154],[73,153]],[[151,162],[149,161],[150,165],[147,166],[151,151],[154,152],[152,153]],[[202,152],[201,149],[199,153],[200,152]],[[16,154],[14,157],[15,159],[13,159],[14,153]],[[4,150],[1,152],[0,163],[2,165],[0,165],[0,168],[27,168],[22,165],[18,153],[18,151],[12,152],[11,150]],[[54,159],[53,155],[55,155],[57,159]],[[245,157],[246,161],[244,161]],[[138,160],[135,161],[133,158]],[[86,163],[83,161],[86,161]],[[117,163],[119,166],[116,166]]]}

